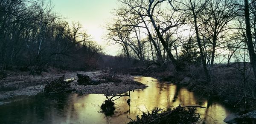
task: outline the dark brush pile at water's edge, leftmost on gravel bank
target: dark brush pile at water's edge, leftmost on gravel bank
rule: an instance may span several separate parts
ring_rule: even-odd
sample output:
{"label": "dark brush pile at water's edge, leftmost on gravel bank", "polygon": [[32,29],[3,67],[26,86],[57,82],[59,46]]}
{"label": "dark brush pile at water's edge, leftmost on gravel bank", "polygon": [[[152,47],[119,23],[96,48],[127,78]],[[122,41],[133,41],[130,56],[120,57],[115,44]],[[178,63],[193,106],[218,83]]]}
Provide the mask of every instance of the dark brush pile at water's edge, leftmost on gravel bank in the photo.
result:
{"label": "dark brush pile at water's edge, leftmost on gravel bank", "polygon": [[44,87],[44,92],[46,93],[64,93],[70,92],[70,82],[64,81],[65,76],[62,76],[58,79],[47,82],[47,85]]}

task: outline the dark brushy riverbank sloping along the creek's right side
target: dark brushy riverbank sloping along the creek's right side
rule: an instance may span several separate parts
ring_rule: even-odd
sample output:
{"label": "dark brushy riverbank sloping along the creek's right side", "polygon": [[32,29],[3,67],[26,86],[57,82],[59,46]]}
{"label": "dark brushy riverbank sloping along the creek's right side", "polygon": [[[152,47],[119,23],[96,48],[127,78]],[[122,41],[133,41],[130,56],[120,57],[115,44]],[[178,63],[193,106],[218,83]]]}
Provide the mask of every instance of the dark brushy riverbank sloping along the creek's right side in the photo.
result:
{"label": "dark brushy riverbank sloping along the creek's right side", "polygon": [[[202,68],[188,68],[182,72],[150,72],[139,73],[142,76],[151,76],[163,82],[170,82],[189,91],[207,97],[208,101],[218,101],[226,107],[230,107],[236,113],[232,121],[239,123],[256,122],[256,116],[252,115],[256,110],[256,81],[251,71],[244,72],[231,66],[216,66],[209,70],[210,81]],[[228,117],[230,118],[230,117]],[[225,121],[226,122],[226,121]],[[253,123],[254,124],[254,123]]]}

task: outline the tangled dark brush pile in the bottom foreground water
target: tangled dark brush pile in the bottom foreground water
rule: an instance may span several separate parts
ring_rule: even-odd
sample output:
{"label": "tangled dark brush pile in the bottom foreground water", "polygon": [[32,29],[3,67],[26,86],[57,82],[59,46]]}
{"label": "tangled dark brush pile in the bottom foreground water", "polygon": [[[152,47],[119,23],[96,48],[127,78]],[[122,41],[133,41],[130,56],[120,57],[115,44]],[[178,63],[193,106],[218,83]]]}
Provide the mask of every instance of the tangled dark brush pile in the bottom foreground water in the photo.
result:
{"label": "tangled dark brush pile in the bottom foreground water", "polygon": [[137,120],[131,121],[128,124],[195,124],[200,119],[200,114],[195,113],[196,107],[176,107],[166,111],[156,108],[152,113],[143,113],[141,118],[137,116]]}

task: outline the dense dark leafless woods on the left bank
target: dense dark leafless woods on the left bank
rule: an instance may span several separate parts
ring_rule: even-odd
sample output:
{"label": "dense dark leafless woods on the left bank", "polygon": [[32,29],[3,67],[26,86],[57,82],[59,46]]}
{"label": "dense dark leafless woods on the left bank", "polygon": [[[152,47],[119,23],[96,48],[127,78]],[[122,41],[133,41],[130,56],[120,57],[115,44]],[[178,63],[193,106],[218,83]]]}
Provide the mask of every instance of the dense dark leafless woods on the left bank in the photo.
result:
{"label": "dense dark leafless woods on the left bank", "polygon": [[82,25],[62,19],[47,0],[0,0],[1,70],[89,68],[101,54]]}

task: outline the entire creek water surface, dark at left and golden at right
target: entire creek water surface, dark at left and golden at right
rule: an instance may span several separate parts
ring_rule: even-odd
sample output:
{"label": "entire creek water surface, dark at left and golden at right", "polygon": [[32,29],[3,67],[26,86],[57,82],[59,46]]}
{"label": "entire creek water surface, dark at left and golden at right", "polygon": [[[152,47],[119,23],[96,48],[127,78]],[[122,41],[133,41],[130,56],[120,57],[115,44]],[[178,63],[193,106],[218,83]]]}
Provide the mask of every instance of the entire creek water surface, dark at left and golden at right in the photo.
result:
{"label": "entire creek water surface, dark at left and golden at right", "polygon": [[208,102],[183,87],[168,82],[158,82],[151,77],[134,77],[134,80],[148,85],[144,90],[131,91],[130,106],[128,97],[115,101],[115,113],[105,116],[100,113],[100,105],[106,97],[102,94],[38,94],[22,100],[0,105],[0,124],[126,124],[129,118],[150,111],[155,107],[177,107],[201,105],[198,108],[202,122],[224,124],[230,110],[217,102]]}

